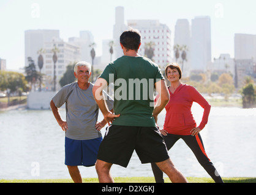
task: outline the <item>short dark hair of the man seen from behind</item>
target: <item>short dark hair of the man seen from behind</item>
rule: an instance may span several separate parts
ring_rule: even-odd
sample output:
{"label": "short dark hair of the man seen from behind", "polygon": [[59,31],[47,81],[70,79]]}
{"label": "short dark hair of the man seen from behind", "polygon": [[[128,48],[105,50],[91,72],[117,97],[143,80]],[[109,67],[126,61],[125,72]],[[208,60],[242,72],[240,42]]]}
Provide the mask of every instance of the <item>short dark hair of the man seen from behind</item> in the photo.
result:
{"label": "short dark hair of the man seen from behind", "polygon": [[120,36],[120,43],[124,46],[124,48],[138,51],[138,46],[141,43],[141,35],[138,30],[130,29],[122,32]]}

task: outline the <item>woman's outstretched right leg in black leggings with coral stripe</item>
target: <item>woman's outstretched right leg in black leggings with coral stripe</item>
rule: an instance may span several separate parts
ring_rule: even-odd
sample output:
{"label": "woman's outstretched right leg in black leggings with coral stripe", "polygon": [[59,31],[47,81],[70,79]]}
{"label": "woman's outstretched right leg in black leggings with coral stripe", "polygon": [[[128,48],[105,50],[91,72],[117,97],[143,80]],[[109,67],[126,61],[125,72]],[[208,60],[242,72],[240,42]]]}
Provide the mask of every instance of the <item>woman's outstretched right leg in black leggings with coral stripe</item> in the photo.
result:
{"label": "woman's outstretched right leg in black leggings with coral stripe", "polygon": [[190,147],[200,165],[203,166],[205,171],[208,172],[209,176],[213,178],[214,182],[223,183],[213,163],[206,155],[205,147],[203,146],[200,133],[197,136],[183,135],[181,138],[185,141],[187,146]]}

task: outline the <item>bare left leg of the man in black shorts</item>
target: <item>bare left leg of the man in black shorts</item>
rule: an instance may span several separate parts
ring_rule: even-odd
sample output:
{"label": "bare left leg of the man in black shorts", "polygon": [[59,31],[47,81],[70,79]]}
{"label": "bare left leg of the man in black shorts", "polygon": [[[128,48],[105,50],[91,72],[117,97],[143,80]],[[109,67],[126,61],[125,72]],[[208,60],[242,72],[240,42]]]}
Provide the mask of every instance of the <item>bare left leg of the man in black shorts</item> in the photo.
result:
{"label": "bare left leg of the man in black shorts", "polygon": [[96,171],[100,183],[114,183],[113,177],[110,174],[110,168],[113,164],[102,160],[96,161]]}

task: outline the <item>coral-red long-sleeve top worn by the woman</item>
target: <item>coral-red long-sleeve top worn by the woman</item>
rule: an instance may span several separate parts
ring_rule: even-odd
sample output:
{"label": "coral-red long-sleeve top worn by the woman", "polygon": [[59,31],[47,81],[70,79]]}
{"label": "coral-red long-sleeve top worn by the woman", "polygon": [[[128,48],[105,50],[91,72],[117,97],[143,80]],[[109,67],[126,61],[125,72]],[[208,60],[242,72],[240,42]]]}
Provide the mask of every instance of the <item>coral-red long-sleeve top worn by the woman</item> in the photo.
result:
{"label": "coral-red long-sleeve top worn by the woman", "polygon": [[165,106],[166,115],[164,129],[175,135],[191,135],[190,130],[197,127],[191,112],[193,102],[197,102],[204,109],[200,125],[201,130],[208,122],[211,105],[192,86],[181,83],[174,93],[170,93],[170,101]]}

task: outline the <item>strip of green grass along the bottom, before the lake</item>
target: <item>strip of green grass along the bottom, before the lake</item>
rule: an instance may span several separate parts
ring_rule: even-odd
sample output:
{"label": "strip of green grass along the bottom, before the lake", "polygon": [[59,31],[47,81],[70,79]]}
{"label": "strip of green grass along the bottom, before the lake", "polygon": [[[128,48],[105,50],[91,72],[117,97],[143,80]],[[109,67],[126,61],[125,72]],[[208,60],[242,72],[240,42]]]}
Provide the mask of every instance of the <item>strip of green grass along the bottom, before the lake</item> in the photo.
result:
{"label": "strip of green grass along the bottom, before the lake", "polygon": [[[256,177],[224,177],[224,183],[256,183]],[[115,183],[155,183],[154,177],[114,177]],[[213,179],[206,177],[187,177],[189,183],[214,183]],[[170,179],[165,178],[166,183]],[[33,180],[6,180],[0,183],[73,183],[72,179],[33,179]],[[84,178],[83,183],[99,183],[97,178]]]}

